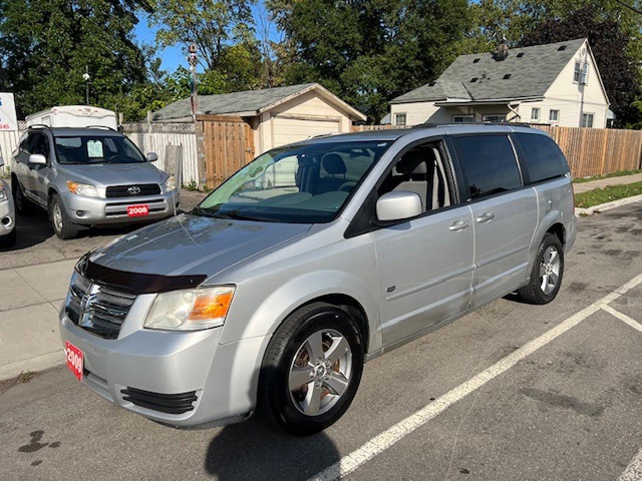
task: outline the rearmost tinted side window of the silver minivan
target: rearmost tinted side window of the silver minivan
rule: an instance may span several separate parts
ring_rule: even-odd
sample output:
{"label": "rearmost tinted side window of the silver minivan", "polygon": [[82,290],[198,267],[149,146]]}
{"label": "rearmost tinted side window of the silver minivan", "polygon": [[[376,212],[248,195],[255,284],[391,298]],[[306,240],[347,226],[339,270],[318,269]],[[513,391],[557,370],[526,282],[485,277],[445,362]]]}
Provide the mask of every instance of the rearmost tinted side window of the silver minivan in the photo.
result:
{"label": "rearmost tinted side window of the silver minivan", "polygon": [[526,164],[531,182],[539,182],[568,173],[566,158],[555,144],[555,140],[547,135],[532,133],[514,135],[526,157],[523,159],[523,164]]}

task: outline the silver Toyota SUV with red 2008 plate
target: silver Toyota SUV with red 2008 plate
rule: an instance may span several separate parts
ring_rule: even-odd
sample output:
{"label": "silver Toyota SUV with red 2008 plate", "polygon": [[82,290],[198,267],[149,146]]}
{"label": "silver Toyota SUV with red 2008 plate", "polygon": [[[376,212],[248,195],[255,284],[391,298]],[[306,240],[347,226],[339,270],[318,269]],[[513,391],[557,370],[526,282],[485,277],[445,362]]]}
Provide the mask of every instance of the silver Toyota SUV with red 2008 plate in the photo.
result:
{"label": "silver Toyota SUV with red 2008 plate", "polygon": [[46,209],[60,239],[75,237],[79,226],[169,217],[179,194],[155,160],[108,128],[30,128],[13,156],[15,207],[23,215]]}

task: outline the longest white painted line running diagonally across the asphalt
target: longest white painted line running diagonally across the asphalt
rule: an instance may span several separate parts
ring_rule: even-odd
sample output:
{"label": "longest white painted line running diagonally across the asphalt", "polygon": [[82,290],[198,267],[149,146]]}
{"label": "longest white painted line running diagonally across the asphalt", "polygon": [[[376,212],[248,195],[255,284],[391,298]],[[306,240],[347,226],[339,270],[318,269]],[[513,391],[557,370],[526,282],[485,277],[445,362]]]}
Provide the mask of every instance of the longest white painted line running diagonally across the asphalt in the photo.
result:
{"label": "longest white painted line running diagonally across the asphalt", "polygon": [[464,384],[458,385],[455,389],[444,394],[444,396],[432,401],[422,409],[408,416],[408,418],[399,421],[399,423],[395,424],[391,428],[388,428],[381,434],[376,435],[360,448],[345,455],[342,459],[338,460],[331,466],[328,466],[328,468],[325,468],[317,475],[309,478],[309,481],[334,481],[352,473],[352,471],[360,468],[370,459],[397,443],[400,439],[403,439],[417,428],[426,424],[430,419],[433,419],[444,412],[457,401],[462,400],[471,392],[476,391],[476,389],[479,389],[490,380],[493,380],[501,373],[504,373],[511,367],[515,366],[517,362],[525,359],[525,357],[534,353],[542,346],[546,346],[546,344],[553,341],[553,339],[556,339],[570,328],[577,326],[580,322],[584,321],[584,319],[591,316],[591,314],[600,310],[604,305],[616,300],[622,294],[625,294],[625,292],[633,289],[640,283],[642,283],[642,274],[634,277],[632,280],[610,294],[607,294],[607,296],[604,296],[602,299],[580,310],[577,314],[573,314],[573,316],[568,317],[566,321],[562,321],[562,323],[543,333],[533,341],[527,342],[518,350],[510,353],[507,357],[500,359],[478,375],[464,382]]}

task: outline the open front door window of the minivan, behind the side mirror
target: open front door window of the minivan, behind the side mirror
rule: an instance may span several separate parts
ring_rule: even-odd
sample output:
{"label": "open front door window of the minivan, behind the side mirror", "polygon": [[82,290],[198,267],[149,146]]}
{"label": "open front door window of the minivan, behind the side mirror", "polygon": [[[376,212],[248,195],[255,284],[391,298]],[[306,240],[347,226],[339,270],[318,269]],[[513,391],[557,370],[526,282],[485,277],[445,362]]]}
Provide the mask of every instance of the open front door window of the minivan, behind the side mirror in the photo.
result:
{"label": "open front door window of the minivan, behind the side mirror", "polygon": [[379,196],[404,190],[421,198],[423,212],[451,205],[453,197],[446,163],[437,144],[430,142],[406,151],[379,187]]}

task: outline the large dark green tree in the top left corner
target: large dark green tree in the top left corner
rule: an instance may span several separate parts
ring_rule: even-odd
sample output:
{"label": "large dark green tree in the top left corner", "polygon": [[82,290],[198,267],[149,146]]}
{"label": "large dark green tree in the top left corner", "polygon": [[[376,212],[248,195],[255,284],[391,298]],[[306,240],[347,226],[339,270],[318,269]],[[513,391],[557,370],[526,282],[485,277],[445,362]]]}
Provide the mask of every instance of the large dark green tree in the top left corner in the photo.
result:
{"label": "large dark green tree in the top left corner", "polygon": [[60,104],[118,104],[146,81],[132,35],[144,0],[0,0],[0,90],[15,93],[20,116]]}

